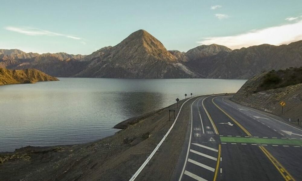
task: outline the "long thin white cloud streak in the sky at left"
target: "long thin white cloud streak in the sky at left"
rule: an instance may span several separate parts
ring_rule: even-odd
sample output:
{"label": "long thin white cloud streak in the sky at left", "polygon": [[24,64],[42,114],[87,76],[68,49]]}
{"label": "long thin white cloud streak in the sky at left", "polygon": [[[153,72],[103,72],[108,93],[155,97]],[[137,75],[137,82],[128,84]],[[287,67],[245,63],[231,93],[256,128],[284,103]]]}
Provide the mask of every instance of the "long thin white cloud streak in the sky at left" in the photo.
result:
{"label": "long thin white cloud streak in the sky at left", "polygon": [[82,39],[80,37],[75,37],[75,36],[69,35],[69,34],[55,33],[55,32],[42,30],[42,29],[38,29],[38,28],[33,28],[33,27],[7,26],[7,27],[4,27],[4,29],[6,29],[8,31],[14,31],[14,32],[21,33],[21,34],[30,35],[30,36],[43,36],[43,35],[44,36],[62,36],[62,37],[66,37],[66,38],[72,38],[72,39],[75,39],[75,40],[81,40]]}

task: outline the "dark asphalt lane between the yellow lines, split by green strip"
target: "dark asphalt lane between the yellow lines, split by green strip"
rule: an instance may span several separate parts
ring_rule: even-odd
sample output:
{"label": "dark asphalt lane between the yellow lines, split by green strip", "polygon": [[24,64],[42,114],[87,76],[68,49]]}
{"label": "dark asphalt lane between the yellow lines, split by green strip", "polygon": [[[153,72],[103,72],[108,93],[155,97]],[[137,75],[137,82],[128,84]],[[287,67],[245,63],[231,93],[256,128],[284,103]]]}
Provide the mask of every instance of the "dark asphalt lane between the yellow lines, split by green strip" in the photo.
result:
{"label": "dark asphalt lane between the yellow lines, split by green strip", "polygon": [[[249,131],[236,119],[217,107],[212,102],[212,99],[213,97],[209,97],[204,102],[215,125],[222,118],[224,121],[234,124],[232,127],[217,126],[220,139],[223,136],[234,139],[238,139],[238,137],[250,138],[248,136],[251,135]],[[221,180],[254,180],[255,177],[258,180],[284,180],[271,161],[266,158],[265,154],[257,146],[245,143],[243,145],[237,143],[222,144],[221,157],[223,157],[221,168],[224,170],[221,174]]]}

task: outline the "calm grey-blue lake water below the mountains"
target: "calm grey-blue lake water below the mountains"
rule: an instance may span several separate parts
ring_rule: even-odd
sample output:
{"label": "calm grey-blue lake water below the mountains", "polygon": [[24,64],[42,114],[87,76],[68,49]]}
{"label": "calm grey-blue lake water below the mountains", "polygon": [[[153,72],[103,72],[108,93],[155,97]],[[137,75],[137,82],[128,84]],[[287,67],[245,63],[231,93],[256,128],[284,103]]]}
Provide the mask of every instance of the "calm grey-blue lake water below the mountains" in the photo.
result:
{"label": "calm grey-blue lake water below the mountains", "polygon": [[236,92],[246,80],[59,78],[0,86],[0,152],[24,146],[79,144],[114,134],[132,116],[184,94]]}

